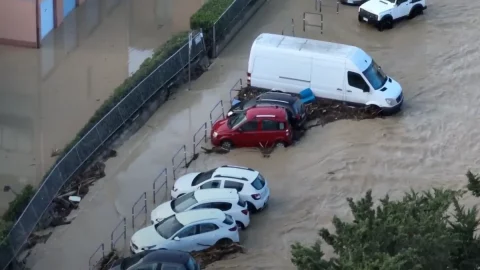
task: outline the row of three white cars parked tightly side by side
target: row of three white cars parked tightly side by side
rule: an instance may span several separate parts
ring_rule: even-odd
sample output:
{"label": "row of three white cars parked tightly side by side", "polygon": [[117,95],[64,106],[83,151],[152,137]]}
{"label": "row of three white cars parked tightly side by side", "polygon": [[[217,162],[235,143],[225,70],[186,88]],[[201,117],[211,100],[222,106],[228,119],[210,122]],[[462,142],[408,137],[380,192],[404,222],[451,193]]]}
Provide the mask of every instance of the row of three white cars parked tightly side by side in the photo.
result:
{"label": "row of three white cars parked tightly side by side", "polygon": [[256,170],[224,165],[189,173],[174,184],[172,200],[151,213],[151,225],[134,233],[133,254],[152,250],[199,251],[239,242],[250,212],[268,204],[270,190]]}

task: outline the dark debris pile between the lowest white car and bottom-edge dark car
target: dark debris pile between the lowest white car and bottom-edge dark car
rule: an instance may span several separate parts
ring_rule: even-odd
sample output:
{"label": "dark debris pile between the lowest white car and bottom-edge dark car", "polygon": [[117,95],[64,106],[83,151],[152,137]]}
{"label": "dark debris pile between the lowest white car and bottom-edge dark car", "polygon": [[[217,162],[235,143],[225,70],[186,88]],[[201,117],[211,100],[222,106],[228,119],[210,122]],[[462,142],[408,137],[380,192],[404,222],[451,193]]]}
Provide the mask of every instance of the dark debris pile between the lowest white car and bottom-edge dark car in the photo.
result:
{"label": "dark debris pile between the lowest white car and bottom-edge dark car", "polygon": [[237,244],[232,243],[222,246],[213,246],[202,251],[192,252],[192,256],[200,264],[202,269],[216,261],[223,259],[225,256],[235,253],[244,253],[245,249]]}

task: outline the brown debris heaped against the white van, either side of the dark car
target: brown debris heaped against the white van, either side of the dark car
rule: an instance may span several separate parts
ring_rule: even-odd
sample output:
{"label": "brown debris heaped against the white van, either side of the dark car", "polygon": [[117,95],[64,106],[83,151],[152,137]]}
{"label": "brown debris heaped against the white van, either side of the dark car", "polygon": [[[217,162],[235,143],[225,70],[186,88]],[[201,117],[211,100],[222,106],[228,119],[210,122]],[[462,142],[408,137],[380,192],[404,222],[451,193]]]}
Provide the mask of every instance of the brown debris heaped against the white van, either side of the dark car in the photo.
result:
{"label": "brown debris heaped against the white van, either side of the dark car", "polygon": [[[252,87],[242,88],[237,95],[240,101],[256,98],[266,92]],[[309,126],[323,126],[325,124],[342,120],[363,120],[380,117],[380,109],[370,107],[348,106],[340,101],[317,98],[312,104],[306,105],[308,120],[316,120],[316,123]]]}

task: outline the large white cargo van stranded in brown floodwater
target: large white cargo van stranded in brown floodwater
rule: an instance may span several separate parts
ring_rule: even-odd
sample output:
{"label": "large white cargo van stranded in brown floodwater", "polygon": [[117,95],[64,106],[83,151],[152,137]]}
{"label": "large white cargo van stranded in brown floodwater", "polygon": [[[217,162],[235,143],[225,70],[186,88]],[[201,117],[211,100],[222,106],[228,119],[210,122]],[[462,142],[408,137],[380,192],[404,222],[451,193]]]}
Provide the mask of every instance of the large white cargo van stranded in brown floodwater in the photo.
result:
{"label": "large white cargo van stranded in brown floodwater", "polygon": [[260,34],[248,60],[248,84],[351,104],[378,106],[386,114],[400,110],[402,87],[383,73],[362,49],[318,40]]}

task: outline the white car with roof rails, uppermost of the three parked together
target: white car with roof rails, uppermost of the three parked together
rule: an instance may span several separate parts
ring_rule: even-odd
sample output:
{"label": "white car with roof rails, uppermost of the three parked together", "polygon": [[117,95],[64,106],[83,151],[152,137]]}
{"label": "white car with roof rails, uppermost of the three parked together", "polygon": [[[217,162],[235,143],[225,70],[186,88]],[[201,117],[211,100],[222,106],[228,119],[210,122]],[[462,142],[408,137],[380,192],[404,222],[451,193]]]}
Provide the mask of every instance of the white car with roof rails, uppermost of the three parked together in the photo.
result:
{"label": "white car with roof rails, uppermost of the three parked together", "polygon": [[233,165],[186,174],[175,181],[171,195],[177,198],[194,190],[211,188],[236,189],[251,212],[265,208],[270,198],[267,181],[258,171]]}

